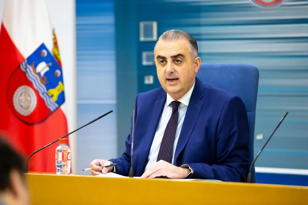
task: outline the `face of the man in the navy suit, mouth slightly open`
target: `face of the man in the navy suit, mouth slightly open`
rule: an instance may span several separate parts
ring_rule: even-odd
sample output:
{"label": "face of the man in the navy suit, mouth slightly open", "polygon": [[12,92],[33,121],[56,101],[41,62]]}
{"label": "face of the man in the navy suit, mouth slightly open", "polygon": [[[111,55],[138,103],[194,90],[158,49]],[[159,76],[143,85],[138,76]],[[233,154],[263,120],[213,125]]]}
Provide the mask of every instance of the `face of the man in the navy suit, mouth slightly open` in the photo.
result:
{"label": "face of the man in the navy suit, mouth slightly open", "polygon": [[158,41],[155,49],[157,77],[163,89],[179,100],[193,86],[201,60],[192,59],[187,39]]}

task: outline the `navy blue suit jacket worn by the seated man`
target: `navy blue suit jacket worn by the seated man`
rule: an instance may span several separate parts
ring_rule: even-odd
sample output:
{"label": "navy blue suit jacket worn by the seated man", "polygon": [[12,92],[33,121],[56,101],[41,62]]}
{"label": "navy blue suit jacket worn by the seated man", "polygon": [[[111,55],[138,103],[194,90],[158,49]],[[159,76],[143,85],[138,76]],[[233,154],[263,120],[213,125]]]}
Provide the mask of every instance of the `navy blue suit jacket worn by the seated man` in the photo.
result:
{"label": "navy blue suit jacket worn by the seated man", "polygon": [[[161,87],[136,96],[133,168],[141,176],[167,94]],[[131,129],[132,132],[132,129]],[[196,78],[182,130],[176,146],[174,165],[193,168],[191,179],[245,182],[249,168],[249,125],[241,98],[202,83]],[[131,139],[116,159],[117,173],[128,176]]]}

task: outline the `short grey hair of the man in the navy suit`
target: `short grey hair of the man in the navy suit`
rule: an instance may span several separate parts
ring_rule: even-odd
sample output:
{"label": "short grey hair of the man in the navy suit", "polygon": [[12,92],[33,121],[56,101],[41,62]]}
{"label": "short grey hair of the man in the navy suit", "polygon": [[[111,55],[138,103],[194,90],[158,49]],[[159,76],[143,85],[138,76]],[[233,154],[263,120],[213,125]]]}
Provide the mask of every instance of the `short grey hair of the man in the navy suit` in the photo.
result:
{"label": "short grey hair of the man in the navy suit", "polygon": [[[195,58],[198,57],[197,41],[187,32],[182,31],[182,30],[176,30],[176,29],[167,30],[163,34],[160,35],[160,37],[158,38],[158,41],[160,41],[160,40],[176,41],[180,38],[186,38],[187,39],[188,44],[189,44],[190,54],[192,56],[192,59],[195,60]],[[155,49],[156,49],[157,42],[156,42],[155,47],[154,47],[154,52],[155,52]]]}

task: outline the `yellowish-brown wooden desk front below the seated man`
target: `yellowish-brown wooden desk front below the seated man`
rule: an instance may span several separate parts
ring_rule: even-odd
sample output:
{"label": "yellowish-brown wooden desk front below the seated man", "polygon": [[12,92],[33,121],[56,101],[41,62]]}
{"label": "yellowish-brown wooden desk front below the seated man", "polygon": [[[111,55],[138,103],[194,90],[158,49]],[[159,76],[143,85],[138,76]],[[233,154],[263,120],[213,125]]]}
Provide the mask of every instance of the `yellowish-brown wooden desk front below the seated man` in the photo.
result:
{"label": "yellowish-brown wooden desk front below the seated man", "polygon": [[32,204],[308,204],[299,186],[34,173],[27,181]]}

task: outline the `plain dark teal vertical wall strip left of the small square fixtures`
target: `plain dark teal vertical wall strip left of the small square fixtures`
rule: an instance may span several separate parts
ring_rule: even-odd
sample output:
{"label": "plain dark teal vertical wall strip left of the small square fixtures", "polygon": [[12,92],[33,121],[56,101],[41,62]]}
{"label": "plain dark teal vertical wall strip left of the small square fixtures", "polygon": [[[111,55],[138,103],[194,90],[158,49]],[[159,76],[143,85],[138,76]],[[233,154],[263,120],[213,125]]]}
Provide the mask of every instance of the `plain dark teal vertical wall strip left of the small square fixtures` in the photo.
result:
{"label": "plain dark teal vertical wall strip left of the small square fixtures", "polygon": [[139,22],[136,21],[134,0],[114,0],[114,3],[118,156],[121,156],[130,133],[132,108],[137,95]]}

